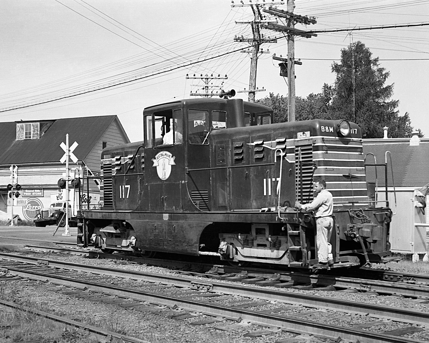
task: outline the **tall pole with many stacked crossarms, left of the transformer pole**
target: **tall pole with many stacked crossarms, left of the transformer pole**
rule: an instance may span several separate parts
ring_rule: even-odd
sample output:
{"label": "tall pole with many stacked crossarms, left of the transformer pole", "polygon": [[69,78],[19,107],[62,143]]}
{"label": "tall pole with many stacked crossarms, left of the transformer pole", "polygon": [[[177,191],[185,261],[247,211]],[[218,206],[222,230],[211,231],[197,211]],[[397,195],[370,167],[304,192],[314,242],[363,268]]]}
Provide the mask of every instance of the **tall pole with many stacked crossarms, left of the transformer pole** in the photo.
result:
{"label": "tall pole with many stacked crossarms, left of the transformer pole", "polygon": [[[270,5],[273,4],[277,4],[277,5],[284,5],[284,1],[280,1],[280,2],[272,2],[270,3]],[[272,21],[266,21],[263,20],[263,16],[261,14],[261,8],[263,8],[263,6],[266,6],[265,3],[250,3],[249,4],[245,4],[243,3],[243,1],[241,1],[241,4],[239,5],[235,5],[234,1],[233,4],[231,5],[231,7],[243,7],[243,6],[250,6],[252,11],[253,11],[253,20],[252,21],[236,21],[236,24],[251,24],[252,27],[252,37],[251,38],[246,38],[246,37],[235,37],[234,38],[234,42],[251,42],[252,43],[252,49],[251,49],[251,63],[250,63],[250,76],[249,76],[249,90],[245,90],[245,91],[240,91],[240,92],[246,92],[249,93],[248,96],[248,101],[249,102],[254,102],[255,101],[255,93],[258,91],[262,91],[264,89],[261,90],[257,90],[256,87],[256,72],[257,72],[257,65],[258,65],[258,54],[263,54],[263,53],[269,53],[262,51],[262,49],[260,50],[260,46],[263,43],[267,43],[267,42],[271,42],[271,43],[277,43],[277,39],[276,37],[274,39],[270,38],[270,37],[264,37],[263,34],[260,33],[260,24],[261,23],[271,23]],[[250,52],[250,51],[246,51],[246,52]]]}

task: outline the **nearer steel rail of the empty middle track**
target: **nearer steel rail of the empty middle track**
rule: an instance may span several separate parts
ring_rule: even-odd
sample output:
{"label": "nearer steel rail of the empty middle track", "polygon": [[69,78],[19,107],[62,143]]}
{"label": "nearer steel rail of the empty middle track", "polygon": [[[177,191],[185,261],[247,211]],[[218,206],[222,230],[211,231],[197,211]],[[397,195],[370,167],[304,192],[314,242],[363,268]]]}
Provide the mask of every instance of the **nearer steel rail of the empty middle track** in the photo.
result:
{"label": "nearer steel rail of the empty middle track", "polygon": [[[71,277],[51,275],[48,273],[9,268],[11,274],[30,277],[33,280],[47,281],[59,285],[82,288],[99,293],[108,293],[134,301],[148,301],[151,304],[158,304],[168,307],[181,307],[184,310],[200,312],[208,316],[221,316],[236,321],[248,321],[266,327],[278,327],[285,331],[297,332],[300,334],[313,334],[330,340],[359,340],[366,343],[421,343],[404,337],[394,337],[385,334],[378,334],[371,331],[356,330],[353,328],[342,328],[337,325],[329,325],[320,322],[312,322],[303,319],[295,319],[288,316],[280,316],[275,313],[263,313],[260,311],[228,307],[225,305],[211,304],[203,301],[196,301],[186,298],[179,298],[173,295],[162,295],[159,293],[142,291],[95,283],[88,280],[78,280]],[[426,321],[427,323],[427,321]]]}

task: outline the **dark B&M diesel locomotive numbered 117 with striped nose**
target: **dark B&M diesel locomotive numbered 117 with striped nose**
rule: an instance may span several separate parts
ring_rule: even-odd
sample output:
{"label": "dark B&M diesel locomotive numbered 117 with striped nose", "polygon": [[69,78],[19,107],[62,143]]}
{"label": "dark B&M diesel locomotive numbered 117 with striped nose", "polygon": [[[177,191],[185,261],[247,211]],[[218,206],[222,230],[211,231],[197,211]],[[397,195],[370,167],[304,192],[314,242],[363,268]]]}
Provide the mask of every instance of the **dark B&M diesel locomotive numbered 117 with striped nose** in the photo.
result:
{"label": "dark B&M diesel locomotive numbered 117 with striped nose", "polygon": [[315,220],[293,206],[322,178],[334,267],[390,259],[392,212],[367,191],[356,124],[274,123],[271,108],[227,96],[151,106],[143,122],[144,141],[103,150],[100,209],[79,212],[81,246],[311,269]]}

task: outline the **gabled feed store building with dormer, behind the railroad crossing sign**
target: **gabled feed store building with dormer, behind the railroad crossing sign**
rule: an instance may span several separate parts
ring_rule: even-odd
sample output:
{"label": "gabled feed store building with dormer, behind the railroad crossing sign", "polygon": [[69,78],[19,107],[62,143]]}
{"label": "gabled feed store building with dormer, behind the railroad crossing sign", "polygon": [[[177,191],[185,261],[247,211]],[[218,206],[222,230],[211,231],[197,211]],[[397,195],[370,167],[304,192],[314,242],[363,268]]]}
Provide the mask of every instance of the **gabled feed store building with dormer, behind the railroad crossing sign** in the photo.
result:
{"label": "gabled feed store building with dormer, behind the railroad crossing sign", "polygon": [[[12,214],[8,184],[22,186],[20,197],[13,199],[13,213],[22,219],[34,217],[26,208],[49,206],[51,195],[58,193],[57,182],[66,172],[60,162],[64,155],[60,144],[66,142],[66,134],[70,146],[75,141],[79,144],[73,150],[78,162],[69,162],[71,178],[82,176],[84,167],[97,175],[103,148],[130,143],[116,115],[0,123],[0,219]],[[17,170],[13,182],[12,165]],[[91,182],[90,191],[100,192],[97,182]],[[31,206],[27,206],[30,200]]]}

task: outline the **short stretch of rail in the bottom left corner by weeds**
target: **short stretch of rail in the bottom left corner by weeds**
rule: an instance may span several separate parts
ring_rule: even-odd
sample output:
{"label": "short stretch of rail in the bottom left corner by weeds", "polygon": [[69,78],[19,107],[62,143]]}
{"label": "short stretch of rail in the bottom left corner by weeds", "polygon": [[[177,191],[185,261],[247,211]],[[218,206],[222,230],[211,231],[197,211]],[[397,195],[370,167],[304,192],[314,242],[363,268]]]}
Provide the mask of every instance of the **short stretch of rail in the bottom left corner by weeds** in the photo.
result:
{"label": "short stretch of rail in the bottom left corner by weeds", "polygon": [[7,307],[13,308],[15,310],[19,310],[19,311],[23,311],[23,312],[27,312],[27,313],[32,313],[32,314],[35,314],[36,316],[47,318],[47,319],[53,320],[55,322],[59,322],[59,323],[64,324],[64,325],[74,326],[75,328],[80,328],[82,330],[89,331],[91,333],[94,333],[94,334],[97,334],[100,336],[104,336],[104,337],[111,336],[111,337],[116,338],[118,340],[123,340],[126,342],[132,342],[132,343],[150,343],[146,340],[139,340],[138,338],[124,336],[124,335],[118,334],[114,331],[100,329],[94,325],[87,325],[87,324],[83,324],[81,322],[76,322],[76,321],[69,319],[67,317],[56,316],[54,314],[47,313],[44,311],[35,310],[33,308],[26,307],[26,306],[23,306],[20,304],[16,304],[16,303],[11,302],[11,301],[6,301],[6,300],[0,299],[0,305],[7,306]]}

